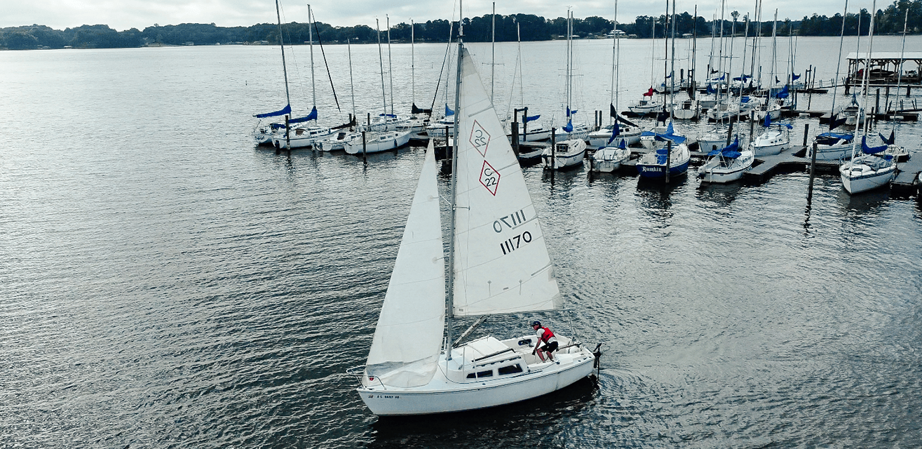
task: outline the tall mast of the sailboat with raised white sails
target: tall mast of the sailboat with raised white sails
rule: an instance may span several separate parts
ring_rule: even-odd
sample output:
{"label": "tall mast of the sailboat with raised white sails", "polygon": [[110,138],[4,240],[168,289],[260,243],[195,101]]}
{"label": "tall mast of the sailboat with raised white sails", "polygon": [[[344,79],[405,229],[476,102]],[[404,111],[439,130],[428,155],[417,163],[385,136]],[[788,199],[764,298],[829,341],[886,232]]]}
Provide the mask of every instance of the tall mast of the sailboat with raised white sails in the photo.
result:
{"label": "tall mast of the sailboat with raised white sails", "polygon": [[[455,225],[457,225],[457,185],[458,185],[458,144],[461,139],[458,130],[458,116],[461,115],[461,64],[464,53],[464,13],[463,0],[458,0],[458,64],[455,75],[455,144],[452,146],[452,199],[451,225],[448,233],[448,294],[445,313],[445,360],[452,360],[452,318],[455,317]],[[445,136],[447,140],[448,136]]]}

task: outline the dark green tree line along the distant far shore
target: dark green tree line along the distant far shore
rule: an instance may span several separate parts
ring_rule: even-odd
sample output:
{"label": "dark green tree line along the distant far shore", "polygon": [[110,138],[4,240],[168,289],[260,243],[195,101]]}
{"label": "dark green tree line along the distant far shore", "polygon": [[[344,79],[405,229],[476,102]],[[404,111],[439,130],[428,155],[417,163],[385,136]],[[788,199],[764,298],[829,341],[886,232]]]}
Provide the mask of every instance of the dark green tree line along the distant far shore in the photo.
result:
{"label": "dark green tree line along the distant far shore", "polygon": [[[922,0],[895,0],[886,9],[879,9],[876,13],[876,33],[899,33],[903,31],[906,11],[909,11],[908,30],[918,33],[922,30]],[[692,18],[688,12],[676,16],[675,29],[677,35],[710,36],[712,30],[719,32],[723,25],[724,35],[735,30],[741,35],[744,30],[744,20],[738,11],[730,13],[732,19],[721,21],[708,21],[703,17]],[[859,20],[860,18],[860,20]],[[792,21],[786,19],[779,21],[778,33],[788,33],[800,36],[838,36],[842,30],[843,17],[835,14],[832,18],[819,16],[805,17],[802,20]],[[862,34],[869,30],[870,14],[862,9],[858,14],[845,16],[845,34],[854,35],[859,32],[860,22]],[[512,16],[496,16],[496,41],[549,41],[560,39],[566,35],[567,19],[546,19],[531,14],[515,14]],[[517,35],[516,26],[518,27]],[[762,36],[770,35],[774,23],[771,19],[761,24]],[[609,34],[614,28],[614,22],[608,18],[597,16],[573,19],[573,34],[580,38],[598,37]],[[620,23],[618,29],[626,35],[638,38],[668,36],[672,31],[672,24],[665,15],[638,16],[632,23]],[[493,18],[485,15],[477,18],[464,19],[464,34],[466,41],[491,41]],[[282,25],[282,40],[286,44],[301,44],[312,39],[310,25],[307,23],[291,22]],[[416,23],[412,27],[408,23],[399,23],[390,30],[391,41],[410,41],[410,36],[420,42],[444,42],[455,39],[458,33],[458,24],[448,20],[429,20],[425,23]],[[756,33],[756,27],[751,24],[750,35]],[[365,25],[354,27],[333,27],[316,22],[313,30],[313,41],[325,43],[345,43],[351,39],[356,43],[368,43],[378,40],[378,31]],[[382,30],[381,39],[386,39],[386,30]],[[8,27],[0,29],[0,49],[31,50],[39,48],[124,48],[141,47],[144,45],[213,45],[216,43],[278,43],[278,25],[272,23],[257,24],[250,27],[218,27],[214,23],[198,24],[183,23],[180,25],[160,26],[154,24],[144,30],[112,30],[106,25],[83,25],[65,30],[53,30],[44,25],[31,25],[22,27]]]}

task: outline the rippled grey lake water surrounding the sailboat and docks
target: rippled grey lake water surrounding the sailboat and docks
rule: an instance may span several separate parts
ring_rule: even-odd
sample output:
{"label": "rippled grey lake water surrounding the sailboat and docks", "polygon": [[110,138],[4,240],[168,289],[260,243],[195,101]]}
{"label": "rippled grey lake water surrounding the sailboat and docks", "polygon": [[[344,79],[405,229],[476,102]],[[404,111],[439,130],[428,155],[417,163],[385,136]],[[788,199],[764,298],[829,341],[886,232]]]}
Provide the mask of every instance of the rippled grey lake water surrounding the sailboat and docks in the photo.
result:
{"label": "rippled grey lake water surrounding the sailboat and docks", "polygon": [[[626,109],[649,87],[651,41],[621,43]],[[834,77],[838,44],[798,40],[795,71]],[[701,72],[709,46],[698,41]],[[442,107],[444,49],[417,45],[411,72],[409,45],[392,46],[396,112],[414,96]],[[472,49],[489,83],[491,46]],[[307,50],[287,53],[296,113],[313,102]],[[356,109],[381,112],[378,48],[351,51]],[[562,42],[522,52],[519,84],[517,46],[496,45],[497,108],[525,98],[561,124]],[[576,52],[574,108],[607,111],[611,41]],[[741,41],[734,52],[739,64]],[[342,112],[319,51],[317,104],[337,124],[352,111],[349,54],[325,56]],[[270,46],[0,52],[0,446],[922,442],[922,203],[849,196],[823,174],[808,204],[803,172],[662,188],[523,169],[569,310],[496,317],[479,334],[529,332],[536,318],[575,331],[604,345],[597,379],[503,408],[372,416],[345,371],[368,354],[423,150],[364,164],[254,148],[252,114],[285,104],[279,59]],[[820,128],[794,124],[798,142]],[[898,125],[913,151],[920,137]]]}

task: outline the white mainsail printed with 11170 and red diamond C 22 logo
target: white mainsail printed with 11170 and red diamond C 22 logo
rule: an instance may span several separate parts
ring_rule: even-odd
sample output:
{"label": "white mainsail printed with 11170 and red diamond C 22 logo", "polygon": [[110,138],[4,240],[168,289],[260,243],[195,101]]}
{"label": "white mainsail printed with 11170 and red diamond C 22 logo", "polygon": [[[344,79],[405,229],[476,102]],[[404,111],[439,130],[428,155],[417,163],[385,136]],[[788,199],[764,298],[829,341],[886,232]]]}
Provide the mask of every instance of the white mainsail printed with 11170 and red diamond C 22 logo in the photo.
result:
{"label": "white mainsail printed with 11170 and red diamond C 22 logo", "polygon": [[455,315],[561,307],[525,178],[467,49],[455,176]]}

